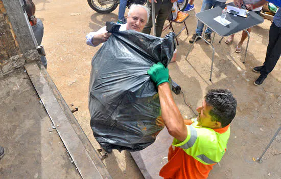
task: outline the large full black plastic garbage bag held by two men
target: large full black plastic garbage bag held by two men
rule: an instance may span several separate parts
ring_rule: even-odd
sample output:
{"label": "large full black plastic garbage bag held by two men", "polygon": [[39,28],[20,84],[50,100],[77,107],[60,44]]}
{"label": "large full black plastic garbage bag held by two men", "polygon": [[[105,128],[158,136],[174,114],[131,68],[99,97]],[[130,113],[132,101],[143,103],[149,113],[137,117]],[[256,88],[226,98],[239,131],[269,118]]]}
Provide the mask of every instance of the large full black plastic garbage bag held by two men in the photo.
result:
{"label": "large full black plastic garbage bag held by two men", "polygon": [[89,84],[90,125],[108,152],[142,150],[163,129],[157,89],[147,70],[159,61],[167,66],[175,48],[174,33],[158,38],[119,32],[119,27],[107,24],[112,35],[92,58]]}

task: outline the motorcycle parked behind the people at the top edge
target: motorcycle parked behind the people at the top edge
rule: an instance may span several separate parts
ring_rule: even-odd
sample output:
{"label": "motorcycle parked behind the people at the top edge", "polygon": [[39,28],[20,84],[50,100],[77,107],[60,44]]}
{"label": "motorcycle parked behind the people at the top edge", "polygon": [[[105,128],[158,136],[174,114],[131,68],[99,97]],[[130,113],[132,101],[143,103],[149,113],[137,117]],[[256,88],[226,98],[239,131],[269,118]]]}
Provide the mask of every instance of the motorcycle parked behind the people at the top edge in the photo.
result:
{"label": "motorcycle parked behind the people at the top edge", "polygon": [[[89,6],[98,13],[110,13],[114,11],[120,3],[120,0],[87,0]],[[131,4],[145,5],[146,0],[128,0],[126,8],[130,8]],[[188,5],[188,0],[183,0],[178,3],[180,10],[185,9]]]}

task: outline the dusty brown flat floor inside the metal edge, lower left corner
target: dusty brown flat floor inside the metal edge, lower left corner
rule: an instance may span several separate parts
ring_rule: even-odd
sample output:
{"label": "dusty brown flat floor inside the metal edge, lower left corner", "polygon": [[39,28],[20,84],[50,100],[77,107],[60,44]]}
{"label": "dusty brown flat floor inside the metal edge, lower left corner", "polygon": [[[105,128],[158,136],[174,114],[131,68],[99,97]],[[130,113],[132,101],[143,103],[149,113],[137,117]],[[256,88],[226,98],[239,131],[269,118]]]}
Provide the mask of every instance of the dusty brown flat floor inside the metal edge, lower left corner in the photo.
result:
{"label": "dusty brown flat floor inside the metal edge, lower left corner", "polygon": [[0,178],[81,178],[24,68],[0,79]]}

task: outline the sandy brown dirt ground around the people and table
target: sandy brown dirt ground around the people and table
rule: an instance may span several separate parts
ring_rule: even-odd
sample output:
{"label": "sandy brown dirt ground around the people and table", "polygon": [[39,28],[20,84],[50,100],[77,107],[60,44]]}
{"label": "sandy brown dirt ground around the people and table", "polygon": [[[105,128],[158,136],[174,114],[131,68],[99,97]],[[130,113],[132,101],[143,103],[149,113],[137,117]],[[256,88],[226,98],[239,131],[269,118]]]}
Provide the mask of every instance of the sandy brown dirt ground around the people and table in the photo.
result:
{"label": "sandy brown dirt ground around the people and table", "polygon": [[[44,24],[42,44],[47,54],[48,72],[65,101],[78,106],[75,117],[92,145],[98,149],[99,144],[93,138],[89,125],[87,97],[91,58],[99,47],[87,46],[85,36],[103,27],[106,21],[116,21],[118,8],[110,14],[99,14],[90,9],[86,0],[34,2],[35,15]],[[196,29],[195,13],[200,11],[201,5],[202,0],[196,1],[195,10],[190,12],[186,20],[190,35],[187,36],[183,31],[179,36],[177,61],[169,65],[169,70],[171,77],[182,87],[185,100],[194,109],[201,105],[210,88],[229,88],[238,100],[237,117],[231,125],[227,152],[209,178],[281,178],[281,134],[266,152],[262,164],[253,161],[262,153],[281,124],[281,63],[277,63],[262,86],[253,85],[259,74],[251,70],[264,62],[271,23],[265,20],[253,28],[245,64],[242,61],[246,42],[241,54],[234,52],[241,33],[228,46],[224,42],[218,43],[220,37],[216,36],[213,81],[210,82],[212,49],[205,42],[197,42],[188,61],[184,59],[191,47],[188,40]],[[179,31],[182,26],[175,27]],[[162,34],[168,32],[166,30]],[[174,98],[182,115],[190,115],[183,96],[174,95]],[[113,151],[104,163],[113,178],[143,177],[129,152]]]}

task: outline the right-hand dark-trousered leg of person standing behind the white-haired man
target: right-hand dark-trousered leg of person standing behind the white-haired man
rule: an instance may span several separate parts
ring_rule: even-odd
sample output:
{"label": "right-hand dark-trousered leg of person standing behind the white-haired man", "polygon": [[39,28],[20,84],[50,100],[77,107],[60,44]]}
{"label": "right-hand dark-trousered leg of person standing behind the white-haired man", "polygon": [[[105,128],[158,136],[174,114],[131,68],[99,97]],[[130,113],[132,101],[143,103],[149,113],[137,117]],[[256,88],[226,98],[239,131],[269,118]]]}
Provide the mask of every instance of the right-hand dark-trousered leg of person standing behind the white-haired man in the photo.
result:
{"label": "right-hand dark-trousered leg of person standing behind the white-haired man", "polygon": [[170,0],[164,0],[160,5],[160,9],[156,18],[155,28],[156,28],[156,37],[161,37],[162,29],[167,17],[171,14],[173,3]]}

